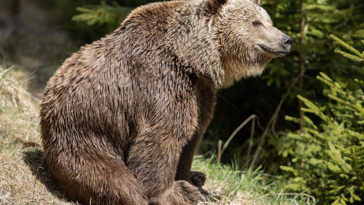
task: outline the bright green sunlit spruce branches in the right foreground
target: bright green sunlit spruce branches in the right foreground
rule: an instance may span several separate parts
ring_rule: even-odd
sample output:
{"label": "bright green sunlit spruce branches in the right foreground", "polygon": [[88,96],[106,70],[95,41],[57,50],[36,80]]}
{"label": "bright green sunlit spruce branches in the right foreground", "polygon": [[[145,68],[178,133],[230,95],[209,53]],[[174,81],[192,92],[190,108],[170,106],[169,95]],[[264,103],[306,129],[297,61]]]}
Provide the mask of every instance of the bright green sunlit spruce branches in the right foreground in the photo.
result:
{"label": "bright green sunlit spruce branches in the right foreground", "polygon": [[[363,53],[334,35],[331,38],[351,52],[339,53],[363,62]],[[363,201],[364,83],[355,79],[356,89],[349,89],[322,72],[316,78],[328,87],[323,91],[328,99],[321,107],[297,96],[306,106],[302,111],[308,115],[302,119],[304,128],[301,131],[286,135],[296,149],[290,150],[292,160],[288,166],[281,166],[283,177],[288,179],[285,188],[294,192],[306,190],[317,197],[320,204]],[[318,119],[314,119],[315,116]],[[286,120],[301,121],[289,116]]]}

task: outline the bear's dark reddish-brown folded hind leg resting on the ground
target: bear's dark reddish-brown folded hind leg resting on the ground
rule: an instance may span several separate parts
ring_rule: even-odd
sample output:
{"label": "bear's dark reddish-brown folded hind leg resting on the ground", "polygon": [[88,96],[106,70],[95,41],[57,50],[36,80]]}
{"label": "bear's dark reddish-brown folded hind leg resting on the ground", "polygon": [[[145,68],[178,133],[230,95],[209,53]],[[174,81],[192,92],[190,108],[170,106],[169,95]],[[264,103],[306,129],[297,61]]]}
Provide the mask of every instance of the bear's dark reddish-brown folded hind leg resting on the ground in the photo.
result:
{"label": "bear's dark reddish-brown folded hind leg resting on the ground", "polygon": [[110,154],[83,153],[66,160],[47,158],[47,162],[71,200],[83,204],[149,204],[134,174],[124,162]]}

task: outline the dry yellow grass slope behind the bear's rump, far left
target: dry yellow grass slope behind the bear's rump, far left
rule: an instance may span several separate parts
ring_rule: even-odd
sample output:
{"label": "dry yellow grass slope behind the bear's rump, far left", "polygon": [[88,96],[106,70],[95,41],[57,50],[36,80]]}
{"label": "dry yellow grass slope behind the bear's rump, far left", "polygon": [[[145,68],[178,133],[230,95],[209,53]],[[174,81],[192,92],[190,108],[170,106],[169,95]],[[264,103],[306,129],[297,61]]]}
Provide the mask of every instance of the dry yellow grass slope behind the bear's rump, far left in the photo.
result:
{"label": "dry yellow grass slope behind the bear's rump, far left", "polygon": [[41,143],[38,101],[25,81],[23,73],[0,67],[0,204],[64,204],[43,151],[23,142]]}

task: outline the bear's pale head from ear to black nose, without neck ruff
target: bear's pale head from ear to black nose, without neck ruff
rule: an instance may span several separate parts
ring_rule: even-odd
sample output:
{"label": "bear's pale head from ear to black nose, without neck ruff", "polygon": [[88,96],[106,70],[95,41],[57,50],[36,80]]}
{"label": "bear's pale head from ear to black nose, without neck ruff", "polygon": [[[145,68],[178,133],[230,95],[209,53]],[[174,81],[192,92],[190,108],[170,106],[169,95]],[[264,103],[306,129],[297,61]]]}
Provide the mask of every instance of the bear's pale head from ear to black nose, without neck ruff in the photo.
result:
{"label": "bear's pale head from ear to black nose, without neck ruff", "polygon": [[270,60],[290,50],[292,39],[273,26],[259,0],[215,2],[220,4],[214,15],[225,68],[224,86],[260,75]]}

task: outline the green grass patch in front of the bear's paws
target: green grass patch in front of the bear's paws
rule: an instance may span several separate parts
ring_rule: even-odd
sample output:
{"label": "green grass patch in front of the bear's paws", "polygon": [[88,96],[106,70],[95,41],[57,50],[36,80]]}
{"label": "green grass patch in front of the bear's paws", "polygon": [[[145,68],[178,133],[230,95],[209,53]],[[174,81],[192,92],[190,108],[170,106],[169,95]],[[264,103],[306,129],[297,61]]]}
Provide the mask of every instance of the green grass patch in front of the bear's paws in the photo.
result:
{"label": "green grass patch in front of the bear's paws", "polygon": [[232,165],[217,163],[210,158],[195,156],[192,169],[206,174],[204,189],[213,196],[214,204],[313,204],[305,194],[277,193],[279,177],[265,174],[258,169],[242,171],[235,162]]}

